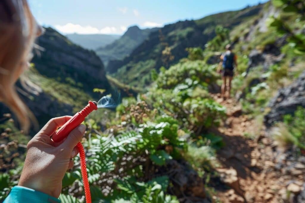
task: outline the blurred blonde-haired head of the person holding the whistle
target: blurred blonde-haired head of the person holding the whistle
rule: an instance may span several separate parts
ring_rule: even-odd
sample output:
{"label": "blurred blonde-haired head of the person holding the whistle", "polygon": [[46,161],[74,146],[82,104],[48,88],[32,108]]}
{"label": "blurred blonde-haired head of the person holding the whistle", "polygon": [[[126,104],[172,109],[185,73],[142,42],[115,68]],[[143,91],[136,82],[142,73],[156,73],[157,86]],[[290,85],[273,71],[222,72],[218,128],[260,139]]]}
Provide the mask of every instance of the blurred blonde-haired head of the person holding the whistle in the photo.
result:
{"label": "blurred blonde-haired head of the person holding the whistle", "polygon": [[34,116],[16,93],[15,82],[28,67],[41,31],[26,0],[0,1],[0,101],[16,114],[24,130]]}

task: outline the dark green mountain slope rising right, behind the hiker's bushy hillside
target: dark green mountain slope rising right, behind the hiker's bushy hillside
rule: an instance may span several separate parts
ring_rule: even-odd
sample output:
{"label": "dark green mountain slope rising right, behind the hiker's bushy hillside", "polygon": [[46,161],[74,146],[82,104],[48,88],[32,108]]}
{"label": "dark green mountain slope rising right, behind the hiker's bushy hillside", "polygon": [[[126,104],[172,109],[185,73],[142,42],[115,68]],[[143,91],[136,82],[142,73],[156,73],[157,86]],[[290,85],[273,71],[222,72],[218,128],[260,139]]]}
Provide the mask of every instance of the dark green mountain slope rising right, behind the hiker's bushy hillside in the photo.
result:
{"label": "dark green mountain slope rising right, behind the hiker's bushy hillside", "polygon": [[[246,19],[257,16],[264,4],[206,16],[198,20],[179,21],[152,31],[148,38],[136,47],[123,60],[109,61],[106,70],[125,84],[143,88],[149,85],[150,72],[161,66],[168,68],[187,56],[187,47],[205,47],[215,37],[215,26],[232,28]],[[110,46],[110,45],[108,45]],[[107,47],[107,46],[106,46]],[[168,52],[170,50],[170,52]],[[172,56],[164,62],[164,55]],[[100,54],[99,54],[100,56]],[[165,56],[169,57],[169,55]]]}

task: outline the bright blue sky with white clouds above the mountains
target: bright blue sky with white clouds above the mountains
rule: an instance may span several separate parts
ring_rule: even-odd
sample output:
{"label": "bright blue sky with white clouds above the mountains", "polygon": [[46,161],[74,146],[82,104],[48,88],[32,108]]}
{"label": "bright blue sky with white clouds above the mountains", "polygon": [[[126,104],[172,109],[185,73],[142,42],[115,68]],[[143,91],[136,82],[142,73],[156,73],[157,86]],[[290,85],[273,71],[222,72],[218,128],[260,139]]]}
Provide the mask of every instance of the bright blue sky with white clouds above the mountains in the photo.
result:
{"label": "bright blue sky with white clouds above the mountains", "polygon": [[61,33],[122,34],[131,25],[160,27],[266,0],[28,0],[33,15]]}

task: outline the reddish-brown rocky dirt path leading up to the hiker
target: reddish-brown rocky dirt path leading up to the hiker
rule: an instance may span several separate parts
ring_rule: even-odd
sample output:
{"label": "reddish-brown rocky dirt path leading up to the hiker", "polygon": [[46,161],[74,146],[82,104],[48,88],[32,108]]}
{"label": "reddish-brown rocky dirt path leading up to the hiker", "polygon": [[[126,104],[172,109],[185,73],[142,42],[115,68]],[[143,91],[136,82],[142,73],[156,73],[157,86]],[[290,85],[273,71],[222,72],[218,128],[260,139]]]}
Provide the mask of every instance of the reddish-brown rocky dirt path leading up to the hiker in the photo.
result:
{"label": "reddish-brown rocky dirt path leading up to the hiker", "polygon": [[[212,96],[227,107],[228,115],[217,132],[226,143],[218,151],[221,167],[216,169],[221,181],[228,186],[227,190],[217,191],[221,201],[303,202],[298,195],[305,187],[302,157],[292,160],[265,136],[264,128],[260,130],[254,120],[242,115],[242,108],[234,99],[223,101],[219,94]],[[255,138],[249,138],[251,133],[256,134]]]}

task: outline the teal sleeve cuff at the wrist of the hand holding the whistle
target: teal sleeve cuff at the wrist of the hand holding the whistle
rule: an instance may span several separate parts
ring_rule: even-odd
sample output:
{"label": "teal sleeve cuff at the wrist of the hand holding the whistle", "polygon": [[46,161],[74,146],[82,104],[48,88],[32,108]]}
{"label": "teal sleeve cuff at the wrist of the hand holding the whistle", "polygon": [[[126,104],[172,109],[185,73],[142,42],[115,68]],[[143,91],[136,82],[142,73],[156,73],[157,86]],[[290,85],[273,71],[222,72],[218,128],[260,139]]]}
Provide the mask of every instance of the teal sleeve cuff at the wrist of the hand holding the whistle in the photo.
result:
{"label": "teal sleeve cuff at the wrist of the hand holding the whistle", "polygon": [[3,203],[56,203],[60,202],[59,199],[52,197],[48,194],[22,186],[15,186],[9,193],[9,196]]}

